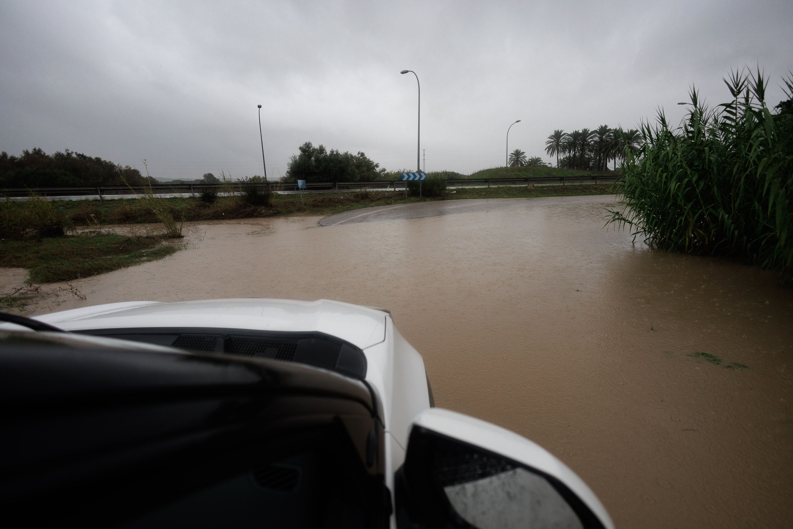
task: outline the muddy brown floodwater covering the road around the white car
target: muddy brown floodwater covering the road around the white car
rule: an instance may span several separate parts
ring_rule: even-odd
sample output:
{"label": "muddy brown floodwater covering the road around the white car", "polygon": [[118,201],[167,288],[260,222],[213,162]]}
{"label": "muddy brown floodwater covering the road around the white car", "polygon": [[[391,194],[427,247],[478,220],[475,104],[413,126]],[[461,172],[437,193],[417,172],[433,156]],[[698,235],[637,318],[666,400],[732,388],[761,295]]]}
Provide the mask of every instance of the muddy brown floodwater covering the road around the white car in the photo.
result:
{"label": "muddy brown floodwater covering the road around the white car", "polygon": [[58,309],[212,297],[386,307],[439,406],[546,447],[618,527],[791,527],[793,289],[632,243],[603,228],[607,200],[194,224],[186,251],[76,282],[88,299]]}

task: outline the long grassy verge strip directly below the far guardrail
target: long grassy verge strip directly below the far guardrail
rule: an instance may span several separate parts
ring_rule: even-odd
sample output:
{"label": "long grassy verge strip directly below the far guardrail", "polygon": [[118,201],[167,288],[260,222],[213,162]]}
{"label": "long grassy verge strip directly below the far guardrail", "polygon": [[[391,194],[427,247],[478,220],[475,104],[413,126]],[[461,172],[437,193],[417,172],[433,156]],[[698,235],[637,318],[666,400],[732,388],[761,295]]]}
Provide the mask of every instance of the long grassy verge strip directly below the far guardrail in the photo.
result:
{"label": "long grassy verge strip directly below the far guardrail", "polygon": [[[423,200],[458,200],[462,198],[566,197],[573,195],[615,193],[611,184],[576,186],[491,187],[447,190],[444,197]],[[299,194],[274,194],[269,206],[248,205],[239,197],[218,197],[212,204],[195,197],[161,199],[174,218],[185,221],[239,219],[251,217],[332,215],[350,209],[420,201],[404,197],[404,191],[361,191],[358,193],[306,193],[305,205]],[[71,224],[147,224],[159,222],[151,208],[138,199],[53,202],[56,212]],[[21,203],[24,205],[24,203]]]}

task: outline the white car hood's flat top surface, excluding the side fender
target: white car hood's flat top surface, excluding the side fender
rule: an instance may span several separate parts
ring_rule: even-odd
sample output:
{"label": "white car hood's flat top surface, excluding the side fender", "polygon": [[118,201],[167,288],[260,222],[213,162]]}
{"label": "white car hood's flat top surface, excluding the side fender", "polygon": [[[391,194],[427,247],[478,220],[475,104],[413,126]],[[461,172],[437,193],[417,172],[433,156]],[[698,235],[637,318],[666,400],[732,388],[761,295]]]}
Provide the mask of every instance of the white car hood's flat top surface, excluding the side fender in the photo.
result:
{"label": "white car hood's flat top surface, excluding the side fender", "polygon": [[340,301],[241,298],[130,301],[52,312],[36,320],[67,331],[100,328],[228,328],[324,332],[365,349],[385,339],[386,313]]}

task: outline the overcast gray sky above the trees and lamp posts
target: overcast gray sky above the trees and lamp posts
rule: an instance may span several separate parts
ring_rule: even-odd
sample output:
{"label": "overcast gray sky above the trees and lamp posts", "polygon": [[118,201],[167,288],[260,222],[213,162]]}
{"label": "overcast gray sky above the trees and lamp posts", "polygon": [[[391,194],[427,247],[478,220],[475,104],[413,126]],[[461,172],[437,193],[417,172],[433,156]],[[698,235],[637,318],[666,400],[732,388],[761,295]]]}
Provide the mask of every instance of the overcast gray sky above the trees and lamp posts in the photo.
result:
{"label": "overcast gray sky above the trees and lamp posts", "polygon": [[0,2],[0,150],[69,148],[153,176],[285,172],[306,140],[427,171],[545,155],[554,128],[684,114],[793,69],[791,0],[682,2]]}

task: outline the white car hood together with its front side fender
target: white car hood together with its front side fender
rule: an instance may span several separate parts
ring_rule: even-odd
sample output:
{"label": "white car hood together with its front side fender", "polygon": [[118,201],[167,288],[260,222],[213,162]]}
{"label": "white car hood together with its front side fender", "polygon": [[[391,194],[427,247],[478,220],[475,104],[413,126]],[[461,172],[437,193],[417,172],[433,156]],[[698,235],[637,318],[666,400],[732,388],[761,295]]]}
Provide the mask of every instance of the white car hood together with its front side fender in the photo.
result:
{"label": "white car hood together with its front side fender", "polygon": [[411,420],[430,407],[421,355],[394,327],[388,312],[340,301],[225,299],[130,301],[36,316],[66,331],[100,328],[228,328],[281,332],[324,332],[360,347],[366,381],[383,408],[386,480],[404,461]]}

